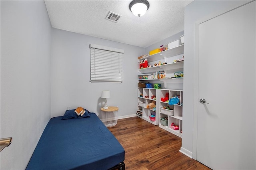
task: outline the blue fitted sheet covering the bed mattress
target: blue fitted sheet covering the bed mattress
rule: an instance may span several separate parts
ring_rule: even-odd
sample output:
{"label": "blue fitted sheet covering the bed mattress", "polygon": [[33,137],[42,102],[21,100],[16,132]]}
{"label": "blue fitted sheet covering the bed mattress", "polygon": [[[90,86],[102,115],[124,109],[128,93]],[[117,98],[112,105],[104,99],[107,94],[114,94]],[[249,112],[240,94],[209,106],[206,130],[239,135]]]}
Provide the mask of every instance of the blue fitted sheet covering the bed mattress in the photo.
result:
{"label": "blue fitted sheet covering the bed mattress", "polygon": [[124,161],[124,148],[95,113],[61,118],[48,122],[27,170],[107,170]]}

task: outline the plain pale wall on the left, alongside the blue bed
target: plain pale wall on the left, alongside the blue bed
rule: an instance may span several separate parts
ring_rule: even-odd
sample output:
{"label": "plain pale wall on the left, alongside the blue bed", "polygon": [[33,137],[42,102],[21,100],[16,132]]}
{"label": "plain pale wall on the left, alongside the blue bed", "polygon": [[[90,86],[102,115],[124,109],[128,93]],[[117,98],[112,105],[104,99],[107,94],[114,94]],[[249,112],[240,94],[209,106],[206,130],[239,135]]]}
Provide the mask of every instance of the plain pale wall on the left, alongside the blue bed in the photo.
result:
{"label": "plain pale wall on the left, alongside the blue bed", "polygon": [[50,119],[50,20],[44,1],[1,0],[2,170],[25,169]]}

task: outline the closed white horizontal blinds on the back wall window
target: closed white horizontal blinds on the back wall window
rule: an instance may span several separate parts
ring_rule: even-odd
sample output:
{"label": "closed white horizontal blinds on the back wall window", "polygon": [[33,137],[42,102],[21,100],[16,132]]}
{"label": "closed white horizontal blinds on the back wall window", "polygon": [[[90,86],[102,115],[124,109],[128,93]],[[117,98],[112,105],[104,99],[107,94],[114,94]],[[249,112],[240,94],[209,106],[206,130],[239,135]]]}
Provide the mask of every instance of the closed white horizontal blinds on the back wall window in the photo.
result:
{"label": "closed white horizontal blinds on the back wall window", "polygon": [[91,82],[122,83],[124,50],[90,44]]}

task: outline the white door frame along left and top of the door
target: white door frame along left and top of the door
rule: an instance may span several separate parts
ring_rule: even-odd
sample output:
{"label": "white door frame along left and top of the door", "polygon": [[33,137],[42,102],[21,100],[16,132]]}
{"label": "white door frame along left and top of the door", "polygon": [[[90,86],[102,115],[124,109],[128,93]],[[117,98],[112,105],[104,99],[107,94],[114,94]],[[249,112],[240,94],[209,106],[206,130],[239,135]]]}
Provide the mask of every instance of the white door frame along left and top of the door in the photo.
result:
{"label": "white door frame along left and top of the door", "polygon": [[246,4],[249,4],[251,2],[254,2],[256,0],[252,0],[250,2],[245,1],[244,4],[237,6],[236,8],[225,8],[224,10],[220,10],[218,12],[214,12],[212,14],[209,14],[208,16],[205,16],[204,18],[201,18],[200,20],[197,20],[195,22],[195,57],[194,57],[194,100],[193,100],[193,137],[192,137],[192,158],[197,160],[197,129],[198,129],[198,84],[199,84],[199,25],[211,20],[213,18],[216,18],[218,16],[221,16],[223,14],[226,14],[232,10],[235,10],[237,8],[240,8],[241,6],[244,6]]}

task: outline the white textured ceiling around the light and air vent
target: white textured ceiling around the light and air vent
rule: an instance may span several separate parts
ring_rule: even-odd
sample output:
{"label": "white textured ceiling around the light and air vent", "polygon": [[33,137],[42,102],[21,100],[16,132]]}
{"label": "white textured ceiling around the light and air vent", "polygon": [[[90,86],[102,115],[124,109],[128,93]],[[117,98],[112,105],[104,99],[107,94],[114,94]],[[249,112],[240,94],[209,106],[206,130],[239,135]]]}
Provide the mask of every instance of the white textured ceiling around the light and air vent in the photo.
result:
{"label": "white textured ceiling around the light and air vent", "polygon": [[[184,6],[192,0],[148,0],[146,14],[129,10],[132,0],[45,0],[53,28],[148,47],[184,30]],[[112,11],[118,22],[106,20]]]}

